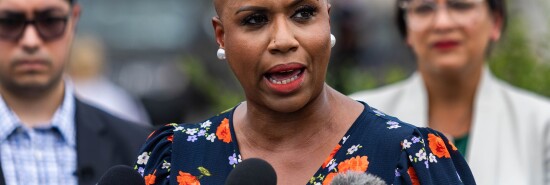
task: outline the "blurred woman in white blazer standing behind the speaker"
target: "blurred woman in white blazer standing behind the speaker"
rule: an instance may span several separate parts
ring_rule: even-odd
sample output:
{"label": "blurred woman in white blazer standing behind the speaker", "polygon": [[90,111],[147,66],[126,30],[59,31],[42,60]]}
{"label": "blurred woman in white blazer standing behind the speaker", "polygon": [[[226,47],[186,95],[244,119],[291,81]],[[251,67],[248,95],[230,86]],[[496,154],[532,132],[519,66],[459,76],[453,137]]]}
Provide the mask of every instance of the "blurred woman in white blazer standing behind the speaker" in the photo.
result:
{"label": "blurred woman in white blazer standing behind the speaker", "polygon": [[352,97],[452,138],[479,184],[550,183],[550,103],[497,80],[485,64],[506,25],[505,1],[397,5],[397,24],[418,71]]}

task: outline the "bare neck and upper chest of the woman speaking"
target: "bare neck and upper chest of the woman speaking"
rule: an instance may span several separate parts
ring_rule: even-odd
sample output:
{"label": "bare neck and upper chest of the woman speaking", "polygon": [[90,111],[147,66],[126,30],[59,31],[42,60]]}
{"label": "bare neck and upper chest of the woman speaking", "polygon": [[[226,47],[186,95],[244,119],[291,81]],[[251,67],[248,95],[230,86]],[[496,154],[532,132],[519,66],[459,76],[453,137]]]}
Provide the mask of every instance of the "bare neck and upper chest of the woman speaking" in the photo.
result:
{"label": "bare neck and upper chest of the woman speaking", "polygon": [[250,142],[260,150],[298,150],[334,138],[334,134],[343,135],[362,106],[325,85],[314,101],[293,113],[274,113],[243,103],[235,112],[235,130],[239,143]]}

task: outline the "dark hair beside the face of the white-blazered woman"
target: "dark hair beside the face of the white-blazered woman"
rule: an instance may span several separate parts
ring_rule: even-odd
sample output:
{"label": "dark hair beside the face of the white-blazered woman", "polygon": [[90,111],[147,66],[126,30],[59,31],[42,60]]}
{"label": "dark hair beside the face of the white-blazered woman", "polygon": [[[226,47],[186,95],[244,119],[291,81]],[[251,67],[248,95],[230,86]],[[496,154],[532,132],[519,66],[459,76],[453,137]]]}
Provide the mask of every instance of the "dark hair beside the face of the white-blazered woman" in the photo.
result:
{"label": "dark hair beside the face of the white-blazered woman", "polygon": [[[409,1],[409,0],[397,0],[395,5],[396,10],[396,23],[397,23],[397,29],[399,29],[399,34],[403,38],[407,38],[407,21],[405,20],[405,10],[401,8],[400,4],[403,1]],[[489,10],[491,11],[491,14],[500,16],[502,18],[502,32],[506,29],[506,24],[508,21],[507,18],[507,11],[506,11],[506,0],[484,0],[489,4]]]}

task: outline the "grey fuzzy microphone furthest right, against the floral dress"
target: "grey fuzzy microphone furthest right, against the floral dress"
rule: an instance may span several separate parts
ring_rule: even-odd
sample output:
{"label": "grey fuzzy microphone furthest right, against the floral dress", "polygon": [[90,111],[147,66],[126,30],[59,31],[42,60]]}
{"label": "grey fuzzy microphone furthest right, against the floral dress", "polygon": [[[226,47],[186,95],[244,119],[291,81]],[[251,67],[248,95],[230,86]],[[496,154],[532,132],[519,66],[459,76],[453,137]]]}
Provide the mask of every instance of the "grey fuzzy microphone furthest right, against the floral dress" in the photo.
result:
{"label": "grey fuzzy microphone furthest right, against the floral dress", "polygon": [[330,185],[387,185],[379,177],[365,172],[348,171],[334,176]]}

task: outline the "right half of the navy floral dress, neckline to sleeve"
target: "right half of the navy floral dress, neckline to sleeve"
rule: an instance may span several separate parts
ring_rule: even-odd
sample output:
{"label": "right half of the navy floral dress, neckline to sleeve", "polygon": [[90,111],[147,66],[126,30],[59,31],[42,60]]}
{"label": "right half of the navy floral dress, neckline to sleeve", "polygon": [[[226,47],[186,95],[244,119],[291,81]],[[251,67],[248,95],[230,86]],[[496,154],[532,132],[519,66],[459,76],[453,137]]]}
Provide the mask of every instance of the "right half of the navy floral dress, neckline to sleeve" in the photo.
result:
{"label": "right half of the navy floral dress, neckline to sleeve", "polygon": [[[443,134],[364,105],[357,122],[323,164],[327,178],[354,168],[396,185],[475,184],[466,161]],[[348,168],[352,163],[360,165]]]}

